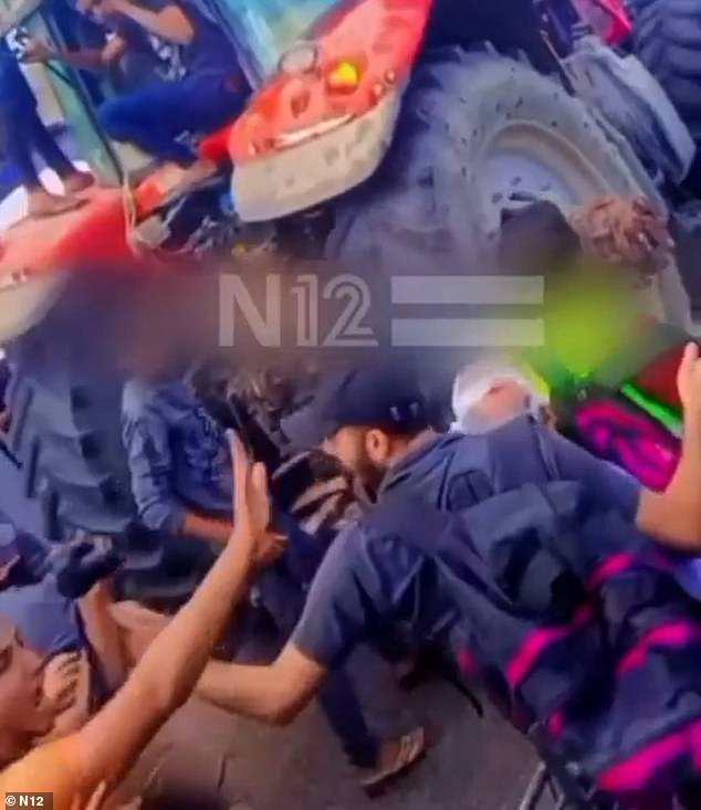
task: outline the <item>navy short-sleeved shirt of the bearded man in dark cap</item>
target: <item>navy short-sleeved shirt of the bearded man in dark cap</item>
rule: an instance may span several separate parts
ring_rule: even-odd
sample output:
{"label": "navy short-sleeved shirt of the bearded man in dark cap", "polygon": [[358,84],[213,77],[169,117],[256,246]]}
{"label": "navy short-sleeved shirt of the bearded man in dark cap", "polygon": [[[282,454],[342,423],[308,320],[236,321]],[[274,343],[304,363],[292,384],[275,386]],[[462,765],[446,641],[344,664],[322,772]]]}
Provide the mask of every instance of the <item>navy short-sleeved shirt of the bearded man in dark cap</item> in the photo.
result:
{"label": "navy short-sleeved shirt of the bearded man in dark cap", "polygon": [[[561,478],[580,482],[603,512],[614,508],[635,519],[640,485],[634,478],[527,418],[519,423],[523,441],[517,448],[511,444],[515,422],[485,435],[437,438],[393,467],[383,491],[401,487],[440,508],[452,508],[450,501],[468,471],[483,473],[495,494]],[[329,669],[358,642],[372,640],[374,629],[387,621],[406,622],[415,635],[453,651],[472,646],[471,628],[441,576],[431,559],[400,537],[375,530],[370,512],[333,544],[292,642]]]}

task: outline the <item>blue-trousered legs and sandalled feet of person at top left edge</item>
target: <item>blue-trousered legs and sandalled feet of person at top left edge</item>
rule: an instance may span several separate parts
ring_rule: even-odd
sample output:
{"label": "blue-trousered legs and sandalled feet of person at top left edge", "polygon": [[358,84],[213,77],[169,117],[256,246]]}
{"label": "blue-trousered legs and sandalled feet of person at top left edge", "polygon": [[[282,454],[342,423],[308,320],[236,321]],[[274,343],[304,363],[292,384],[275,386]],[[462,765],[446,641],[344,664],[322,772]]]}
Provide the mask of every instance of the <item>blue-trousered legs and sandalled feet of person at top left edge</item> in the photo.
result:
{"label": "blue-trousered legs and sandalled feet of person at top left edge", "polygon": [[[52,217],[71,211],[81,201],[74,197],[93,183],[93,178],[79,171],[56,144],[53,135],[39,117],[34,94],[17,63],[14,54],[0,39],[0,126],[4,136],[8,160],[19,172],[27,190],[30,217]],[[50,169],[59,175],[65,197],[48,191],[34,166],[39,155]]]}

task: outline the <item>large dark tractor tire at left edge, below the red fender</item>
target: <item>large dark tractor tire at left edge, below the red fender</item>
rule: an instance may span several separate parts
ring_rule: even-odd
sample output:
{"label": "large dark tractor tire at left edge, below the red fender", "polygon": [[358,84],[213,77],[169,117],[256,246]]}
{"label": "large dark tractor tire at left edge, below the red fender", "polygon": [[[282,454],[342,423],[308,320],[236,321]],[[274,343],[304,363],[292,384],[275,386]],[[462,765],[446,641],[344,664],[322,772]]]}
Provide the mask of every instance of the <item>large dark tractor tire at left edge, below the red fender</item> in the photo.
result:
{"label": "large dark tractor tire at left edge, below the red fender", "polygon": [[2,507],[19,527],[52,541],[77,528],[117,535],[135,516],[119,440],[122,381],[105,370],[98,322],[90,333],[81,318],[69,325],[72,293],[9,351],[4,450],[17,463],[25,508],[13,514],[14,499]]}

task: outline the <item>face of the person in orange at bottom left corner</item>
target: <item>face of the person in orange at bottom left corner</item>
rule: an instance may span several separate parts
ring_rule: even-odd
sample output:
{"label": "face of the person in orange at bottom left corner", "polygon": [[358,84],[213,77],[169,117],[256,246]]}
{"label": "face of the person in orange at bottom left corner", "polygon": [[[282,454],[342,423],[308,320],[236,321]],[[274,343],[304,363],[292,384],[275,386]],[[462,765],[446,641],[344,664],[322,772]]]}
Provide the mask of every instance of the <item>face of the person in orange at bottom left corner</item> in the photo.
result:
{"label": "face of the person in orange at bottom left corner", "polygon": [[[0,737],[28,746],[51,730],[43,703],[42,660],[24,646],[14,627],[0,625]],[[18,751],[21,754],[22,751]]]}

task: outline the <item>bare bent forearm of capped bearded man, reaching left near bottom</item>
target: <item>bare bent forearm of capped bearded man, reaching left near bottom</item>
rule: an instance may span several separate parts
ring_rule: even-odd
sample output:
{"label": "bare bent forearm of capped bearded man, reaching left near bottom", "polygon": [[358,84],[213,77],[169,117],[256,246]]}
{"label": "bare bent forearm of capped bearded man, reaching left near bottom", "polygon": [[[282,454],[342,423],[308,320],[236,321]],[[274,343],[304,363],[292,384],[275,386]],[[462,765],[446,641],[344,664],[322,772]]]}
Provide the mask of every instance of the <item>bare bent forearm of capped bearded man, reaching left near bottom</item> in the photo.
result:
{"label": "bare bent forearm of capped bearded man, reaching left near bottom", "polygon": [[270,666],[211,661],[197,695],[219,708],[274,725],[291,723],[318,691],[326,669],[289,643]]}

